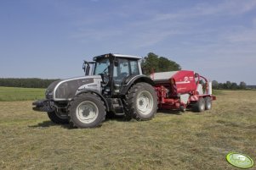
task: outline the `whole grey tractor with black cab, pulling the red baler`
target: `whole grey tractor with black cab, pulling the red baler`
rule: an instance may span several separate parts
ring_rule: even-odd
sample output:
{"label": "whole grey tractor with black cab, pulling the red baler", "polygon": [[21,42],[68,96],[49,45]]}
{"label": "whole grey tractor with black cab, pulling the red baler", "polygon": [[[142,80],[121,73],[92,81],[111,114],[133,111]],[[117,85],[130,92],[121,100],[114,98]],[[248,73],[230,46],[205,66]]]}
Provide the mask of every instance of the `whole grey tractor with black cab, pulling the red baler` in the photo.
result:
{"label": "whole grey tractor with black cab, pulling the red baler", "polygon": [[155,82],[142,74],[137,56],[108,53],[84,61],[85,75],[57,80],[48,86],[46,99],[33,102],[35,111],[47,112],[54,123],[94,128],[107,112],[126,119],[148,120],[158,106]]}

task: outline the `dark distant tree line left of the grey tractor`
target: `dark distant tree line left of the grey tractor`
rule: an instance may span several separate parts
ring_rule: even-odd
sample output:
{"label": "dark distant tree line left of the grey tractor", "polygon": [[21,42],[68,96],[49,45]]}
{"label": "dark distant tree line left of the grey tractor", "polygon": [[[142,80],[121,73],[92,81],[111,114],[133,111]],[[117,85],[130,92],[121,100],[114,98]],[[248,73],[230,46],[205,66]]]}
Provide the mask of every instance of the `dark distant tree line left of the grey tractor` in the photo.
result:
{"label": "dark distant tree line left of the grey tractor", "polygon": [[55,80],[43,80],[37,78],[0,78],[0,86],[25,87],[25,88],[47,88]]}

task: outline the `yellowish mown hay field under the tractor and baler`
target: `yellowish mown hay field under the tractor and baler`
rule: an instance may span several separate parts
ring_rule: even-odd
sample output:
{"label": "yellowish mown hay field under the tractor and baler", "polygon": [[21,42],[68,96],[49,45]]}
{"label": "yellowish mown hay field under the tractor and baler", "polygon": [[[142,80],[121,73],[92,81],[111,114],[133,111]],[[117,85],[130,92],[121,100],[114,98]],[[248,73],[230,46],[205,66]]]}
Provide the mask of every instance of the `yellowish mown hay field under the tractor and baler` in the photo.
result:
{"label": "yellowish mown hay field under the tractor and baler", "polygon": [[230,151],[255,162],[256,91],[217,94],[208,112],[113,118],[96,129],[51,123],[32,101],[0,101],[0,169],[238,169],[225,161]]}

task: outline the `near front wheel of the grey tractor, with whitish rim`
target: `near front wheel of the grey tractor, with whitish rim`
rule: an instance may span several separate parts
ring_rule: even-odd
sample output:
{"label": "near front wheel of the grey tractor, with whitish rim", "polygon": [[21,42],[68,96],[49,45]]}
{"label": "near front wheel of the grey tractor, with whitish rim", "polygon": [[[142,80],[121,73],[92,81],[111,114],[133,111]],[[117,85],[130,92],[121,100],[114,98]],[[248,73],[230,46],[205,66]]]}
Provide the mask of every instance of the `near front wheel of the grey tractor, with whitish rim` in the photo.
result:
{"label": "near front wheel of the grey tractor, with whitish rim", "polygon": [[105,104],[100,96],[82,93],[69,103],[68,116],[71,127],[94,128],[105,120]]}

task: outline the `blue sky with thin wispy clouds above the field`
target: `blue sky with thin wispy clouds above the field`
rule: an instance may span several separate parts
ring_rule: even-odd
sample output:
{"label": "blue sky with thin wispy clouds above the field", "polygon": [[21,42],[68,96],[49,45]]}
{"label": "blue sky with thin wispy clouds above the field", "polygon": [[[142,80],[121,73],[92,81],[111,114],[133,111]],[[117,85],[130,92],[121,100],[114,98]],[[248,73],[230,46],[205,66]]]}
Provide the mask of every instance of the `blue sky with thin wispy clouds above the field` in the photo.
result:
{"label": "blue sky with thin wispy clouds above the field", "polygon": [[256,1],[0,0],[0,77],[74,77],[108,52],[256,85]]}

